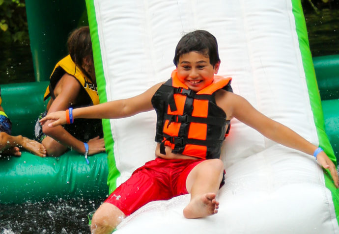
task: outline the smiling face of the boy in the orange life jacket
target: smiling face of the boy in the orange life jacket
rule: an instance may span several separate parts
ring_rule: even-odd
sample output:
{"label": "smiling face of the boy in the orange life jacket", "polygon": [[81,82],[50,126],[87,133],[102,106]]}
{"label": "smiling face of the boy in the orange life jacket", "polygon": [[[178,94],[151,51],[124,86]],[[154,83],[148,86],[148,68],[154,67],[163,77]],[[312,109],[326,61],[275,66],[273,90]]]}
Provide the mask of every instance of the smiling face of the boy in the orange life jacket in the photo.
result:
{"label": "smiling face of the boy in the orange life jacket", "polygon": [[208,55],[199,52],[184,53],[179,57],[177,66],[179,80],[191,90],[198,92],[213,82],[218,73],[220,62],[214,67]]}

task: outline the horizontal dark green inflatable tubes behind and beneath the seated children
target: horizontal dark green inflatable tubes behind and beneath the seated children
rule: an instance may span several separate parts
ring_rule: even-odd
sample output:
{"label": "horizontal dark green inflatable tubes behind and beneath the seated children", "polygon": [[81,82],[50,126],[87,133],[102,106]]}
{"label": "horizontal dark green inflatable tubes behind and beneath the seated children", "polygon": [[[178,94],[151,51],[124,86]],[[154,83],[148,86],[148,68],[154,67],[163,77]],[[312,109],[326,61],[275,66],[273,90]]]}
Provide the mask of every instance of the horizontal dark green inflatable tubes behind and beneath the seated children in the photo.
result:
{"label": "horizontal dark green inflatable tubes behind and beneath the seated children", "polygon": [[[48,82],[1,85],[2,106],[12,121],[12,135],[33,138],[38,115],[46,109]],[[108,194],[107,154],[89,156],[68,151],[60,157],[0,157],[0,203],[37,202],[59,198],[104,198]]]}

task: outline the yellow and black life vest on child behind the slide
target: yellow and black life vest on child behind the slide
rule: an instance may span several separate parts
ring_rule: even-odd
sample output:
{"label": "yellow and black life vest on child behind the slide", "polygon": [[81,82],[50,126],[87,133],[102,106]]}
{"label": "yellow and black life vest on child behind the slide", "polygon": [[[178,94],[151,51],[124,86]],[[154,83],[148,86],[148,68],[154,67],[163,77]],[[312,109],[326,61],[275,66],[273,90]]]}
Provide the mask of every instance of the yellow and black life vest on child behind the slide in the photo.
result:
{"label": "yellow and black life vest on child behind the slide", "polygon": [[67,55],[66,57],[61,59],[55,66],[50,77],[50,85],[47,87],[44,94],[44,101],[50,96],[55,99],[54,89],[57,85],[57,82],[65,73],[68,73],[79,81],[91,100],[90,104],[99,104],[97,86],[93,84],[92,80],[88,78],[78,66],[76,66],[70,55]]}

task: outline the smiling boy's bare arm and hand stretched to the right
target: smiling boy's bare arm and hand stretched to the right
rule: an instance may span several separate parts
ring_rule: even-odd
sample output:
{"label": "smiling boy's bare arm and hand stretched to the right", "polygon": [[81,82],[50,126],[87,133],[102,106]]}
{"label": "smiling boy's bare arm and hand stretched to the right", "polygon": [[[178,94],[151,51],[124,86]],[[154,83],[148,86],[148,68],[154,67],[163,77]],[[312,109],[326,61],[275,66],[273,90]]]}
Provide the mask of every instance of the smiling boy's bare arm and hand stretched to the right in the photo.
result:
{"label": "smiling boy's bare arm and hand stretched to the right", "polygon": [[[244,124],[254,128],[267,138],[284,146],[313,155],[318,148],[286,126],[268,118],[257,111],[246,99],[232,93],[227,94],[228,116],[235,117]],[[323,168],[329,169],[336,187],[339,187],[339,178],[334,163],[324,153],[320,152],[317,161]]]}

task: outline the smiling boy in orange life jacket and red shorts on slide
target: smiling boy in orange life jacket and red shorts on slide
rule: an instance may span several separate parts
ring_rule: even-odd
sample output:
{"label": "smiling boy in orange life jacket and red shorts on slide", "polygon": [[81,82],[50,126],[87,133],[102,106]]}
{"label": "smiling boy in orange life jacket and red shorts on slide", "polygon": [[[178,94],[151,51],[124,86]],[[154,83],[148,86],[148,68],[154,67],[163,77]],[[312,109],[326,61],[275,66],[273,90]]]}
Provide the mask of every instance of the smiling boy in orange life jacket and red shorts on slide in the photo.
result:
{"label": "smiling boy in orange life jacket and red shorts on slide", "polygon": [[[321,148],[293,130],[258,112],[232,93],[230,78],[215,76],[220,66],[216,38],[197,30],[184,35],[173,60],[176,70],[166,82],[144,93],[72,111],[57,111],[41,119],[49,127],[71,123],[72,118],[116,119],[155,109],[158,142],[154,160],[138,168],[96,210],[92,233],[111,233],[121,219],[150,201],[191,194],[186,218],[216,214],[216,194],[223,184],[221,145],[234,117],[284,146],[313,155],[329,169],[336,187],[336,167]],[[71,113],[72,112],[72,113]]]}

